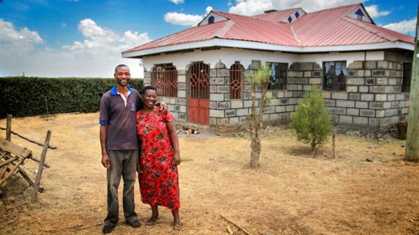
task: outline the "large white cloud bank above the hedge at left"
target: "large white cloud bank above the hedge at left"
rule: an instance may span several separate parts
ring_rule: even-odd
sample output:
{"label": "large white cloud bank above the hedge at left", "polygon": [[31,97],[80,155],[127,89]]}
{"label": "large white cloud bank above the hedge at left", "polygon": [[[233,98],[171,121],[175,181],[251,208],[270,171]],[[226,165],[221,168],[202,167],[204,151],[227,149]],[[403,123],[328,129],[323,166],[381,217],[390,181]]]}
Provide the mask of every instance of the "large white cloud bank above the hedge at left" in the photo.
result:
{"label": "large white cloud bank above the hedge at left", "polygon": [[125,63],[132,77],[142,77],[140,59],[123,59],[121,52],[149,42],[147,32],[119,35],[91,19],[81,20],[78,29],[83,40],[51,49],[36,31],[15,29],[0,19],[0,76],[112,77],[115,66]]}

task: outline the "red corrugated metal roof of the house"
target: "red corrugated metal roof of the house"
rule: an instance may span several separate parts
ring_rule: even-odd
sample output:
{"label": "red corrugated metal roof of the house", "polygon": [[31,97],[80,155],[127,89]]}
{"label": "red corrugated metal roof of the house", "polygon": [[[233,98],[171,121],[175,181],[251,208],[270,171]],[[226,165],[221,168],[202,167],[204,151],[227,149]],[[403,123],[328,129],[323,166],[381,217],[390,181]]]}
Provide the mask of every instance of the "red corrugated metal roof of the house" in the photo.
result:
{"label": "red corrugated metal roof of the house", "polygon": [[346,16],[358,7],[363,8],[362,3],[307,13],[291,24],[281,22],[281,20],[298,8],[253,17],[213,11],[214,14],[221,15],[227,20],[194,26],[134,47],[124,53],[212,38],[294,47],[362,45],[395,41],[413,44],[414,38],[410,36]]}

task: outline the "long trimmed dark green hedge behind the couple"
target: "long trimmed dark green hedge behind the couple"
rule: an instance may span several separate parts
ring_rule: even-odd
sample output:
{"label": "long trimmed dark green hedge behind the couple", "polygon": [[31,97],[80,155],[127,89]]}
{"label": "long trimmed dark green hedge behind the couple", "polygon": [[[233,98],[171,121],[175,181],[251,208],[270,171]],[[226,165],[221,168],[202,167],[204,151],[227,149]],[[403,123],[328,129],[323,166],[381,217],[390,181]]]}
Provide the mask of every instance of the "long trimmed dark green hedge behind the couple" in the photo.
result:
{"label": "long trimmed dark green hedge behind the couple", "polygon": [[[103,93],[116,84],[114,78],[1,77],[0,119],[68,112],[97,112]],[[142,79],[131,79],[142,89]],[[47,111],[48,110],[48,111]]]}

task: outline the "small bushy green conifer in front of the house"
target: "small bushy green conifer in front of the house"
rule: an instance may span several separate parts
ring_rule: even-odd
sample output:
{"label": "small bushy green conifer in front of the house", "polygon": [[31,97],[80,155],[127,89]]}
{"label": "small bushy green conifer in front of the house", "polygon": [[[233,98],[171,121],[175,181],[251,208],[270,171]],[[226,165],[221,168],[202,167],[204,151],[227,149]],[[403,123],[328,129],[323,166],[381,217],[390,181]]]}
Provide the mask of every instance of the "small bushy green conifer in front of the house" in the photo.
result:
{"label": "small bushy green conifer in front of the house", "polygon": [[309,143],[315,153],[328,140],[332,132],[330,111],[325,108],[323,92],[317,86],[311,86],[311,91],[304,94],[302,103],[291,114],[291,128],[297,132],[297,139]]}

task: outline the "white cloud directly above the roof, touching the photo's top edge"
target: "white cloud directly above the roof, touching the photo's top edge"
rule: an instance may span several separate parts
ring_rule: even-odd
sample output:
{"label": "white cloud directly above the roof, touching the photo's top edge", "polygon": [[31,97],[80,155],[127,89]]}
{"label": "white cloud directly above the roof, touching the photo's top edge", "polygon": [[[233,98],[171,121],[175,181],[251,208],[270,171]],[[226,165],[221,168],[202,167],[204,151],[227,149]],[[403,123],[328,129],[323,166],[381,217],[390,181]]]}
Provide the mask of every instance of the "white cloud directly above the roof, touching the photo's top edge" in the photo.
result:
{"label": "white cloud directly above the roof, touching the photo's top edge", "polygon": [[236,0],[235,6],[231,6],[229,12],[239,15],[257,15],[263,13],[264,10],[288,8],[302,8],[307,12],[312,12],[359,2],[359,0]]}

